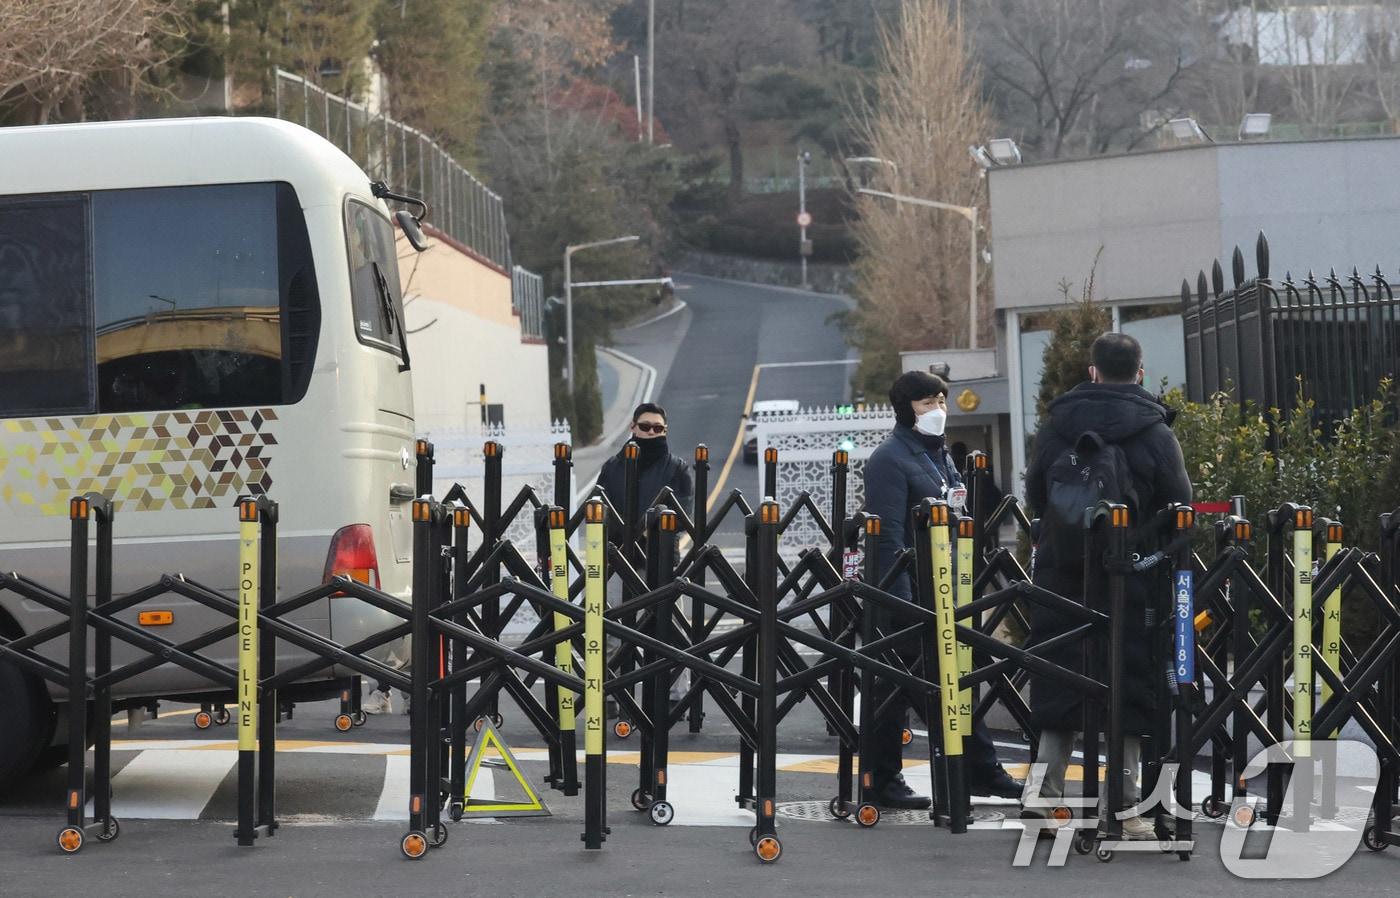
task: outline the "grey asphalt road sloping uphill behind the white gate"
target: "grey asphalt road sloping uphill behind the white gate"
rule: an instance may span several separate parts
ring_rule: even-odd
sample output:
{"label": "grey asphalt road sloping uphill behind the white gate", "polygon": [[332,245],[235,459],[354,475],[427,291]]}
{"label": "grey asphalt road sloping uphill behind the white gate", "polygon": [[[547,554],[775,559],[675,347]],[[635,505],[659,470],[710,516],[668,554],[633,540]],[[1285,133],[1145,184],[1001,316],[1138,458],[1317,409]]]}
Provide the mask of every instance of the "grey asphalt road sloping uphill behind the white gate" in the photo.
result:
{"label": "grey asphalt road sloping uphill behind the white gate", "polygon": [[[615,347],[654,366],[657,402],[668,415],[671,450],[692,457],[710,447],[710,489],[722,500],[731,489],[756,496],[759,469],[734,458],[745,403],[797,399],[804,406],[830,406],[850,398],[854,353],[834,312],[850,300],[763,287],[696,275],[676,277],[680,312],[643,328],[622,331]],[[755,368],[757,384],[755,385]],[[742,524],[728,518],[715,539],[722,548],[742,545]]]}

